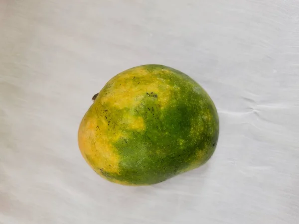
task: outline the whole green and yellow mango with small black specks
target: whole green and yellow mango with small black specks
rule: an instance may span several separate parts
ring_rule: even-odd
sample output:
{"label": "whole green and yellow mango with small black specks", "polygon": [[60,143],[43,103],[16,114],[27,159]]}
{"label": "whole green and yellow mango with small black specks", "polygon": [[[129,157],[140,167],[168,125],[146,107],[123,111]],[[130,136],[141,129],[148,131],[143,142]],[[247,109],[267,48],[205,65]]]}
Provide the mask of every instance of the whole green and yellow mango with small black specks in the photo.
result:
{"label": "whole green and yellow mango with small black specks", "polygon": [[[199,167],[212,156],[219,134],[208,94],[186,74],[163,65],[138,66],[113,77],[85,118],[96,124],[85,120],[80,126],[84,158],[102,177],[125,185],[155,184]],[[103,139],[117,159],[97,144]],[[95,153],[85,151],[87,144]]]}

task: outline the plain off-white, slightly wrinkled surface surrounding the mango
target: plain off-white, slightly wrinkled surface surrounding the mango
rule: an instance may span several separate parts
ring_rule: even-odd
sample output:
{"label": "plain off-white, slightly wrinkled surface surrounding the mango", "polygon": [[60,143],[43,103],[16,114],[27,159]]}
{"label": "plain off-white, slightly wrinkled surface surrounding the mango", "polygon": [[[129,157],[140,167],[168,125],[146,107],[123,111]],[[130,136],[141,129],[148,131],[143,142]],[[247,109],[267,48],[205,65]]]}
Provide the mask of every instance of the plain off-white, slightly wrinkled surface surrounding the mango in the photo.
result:
{"label": "plain off-white, slightly wrinkled surface surrounding the mango", "polygon": [[[92,96],[141,64],[211,96],[204,166],[112,184],[77,146]],[[299,224],[299,0],[0,0],[0,224]]]}

